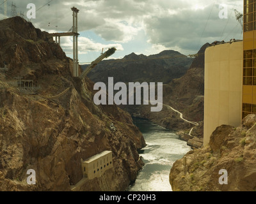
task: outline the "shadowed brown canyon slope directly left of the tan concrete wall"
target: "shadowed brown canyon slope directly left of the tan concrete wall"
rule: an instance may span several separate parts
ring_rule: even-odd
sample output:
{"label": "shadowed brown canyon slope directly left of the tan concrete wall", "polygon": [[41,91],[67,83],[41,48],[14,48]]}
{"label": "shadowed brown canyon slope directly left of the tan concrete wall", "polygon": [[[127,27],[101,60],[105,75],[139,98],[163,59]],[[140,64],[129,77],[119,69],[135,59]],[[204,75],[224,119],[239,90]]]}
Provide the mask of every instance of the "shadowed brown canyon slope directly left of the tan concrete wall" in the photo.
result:
{"label": "shadowed brown canyon slope directly left of the tan concrete wall", "polygon": [[[204,129],[204,52],[209,46],[205,43],[193,59],[190,68],[180,77],[163,87],[163,103],[172,106],[183,113],[185,119],[199,122],[200,126],[193,129],[192,135],[202,137]],[[164,54],[165,51],[161,54]],[[150,107],[124,106],[122,107],[134,117],[149,119],[164,128],[173,130],[191,129],[193,125],[179,118],[179,114],[163,108],[161,112],[150,112]]]}

